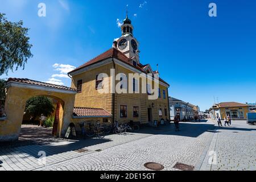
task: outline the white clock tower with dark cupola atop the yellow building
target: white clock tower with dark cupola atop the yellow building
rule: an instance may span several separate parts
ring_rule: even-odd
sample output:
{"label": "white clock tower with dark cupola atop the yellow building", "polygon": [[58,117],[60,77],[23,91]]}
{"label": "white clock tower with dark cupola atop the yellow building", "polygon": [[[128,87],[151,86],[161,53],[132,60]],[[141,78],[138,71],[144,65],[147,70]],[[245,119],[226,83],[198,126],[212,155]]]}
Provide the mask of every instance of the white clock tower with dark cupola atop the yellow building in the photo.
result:
{"label": "white clock tower with dark cupola atop the yellow building", "polygon": [[133,36],[133,25],[127,14],[126,19],[123,20],[121,30],[122,36],[114,40],[114,46],[129,57],[133,65],[137,66],[139,64],[139,42]]}

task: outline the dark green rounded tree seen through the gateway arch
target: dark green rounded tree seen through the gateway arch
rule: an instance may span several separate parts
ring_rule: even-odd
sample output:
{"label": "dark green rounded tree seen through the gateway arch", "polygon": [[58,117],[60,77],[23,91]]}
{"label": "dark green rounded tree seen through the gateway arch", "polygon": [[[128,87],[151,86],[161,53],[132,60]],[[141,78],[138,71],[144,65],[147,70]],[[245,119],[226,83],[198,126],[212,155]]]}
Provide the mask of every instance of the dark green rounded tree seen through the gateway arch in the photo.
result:
{"label": "dark green rounded tree seen through the gateway arch", "polygon": [[31,97],[26,102],[25,112],[36,118],[41,114],[50,115],[54,111],[52,100],[45,96]]}

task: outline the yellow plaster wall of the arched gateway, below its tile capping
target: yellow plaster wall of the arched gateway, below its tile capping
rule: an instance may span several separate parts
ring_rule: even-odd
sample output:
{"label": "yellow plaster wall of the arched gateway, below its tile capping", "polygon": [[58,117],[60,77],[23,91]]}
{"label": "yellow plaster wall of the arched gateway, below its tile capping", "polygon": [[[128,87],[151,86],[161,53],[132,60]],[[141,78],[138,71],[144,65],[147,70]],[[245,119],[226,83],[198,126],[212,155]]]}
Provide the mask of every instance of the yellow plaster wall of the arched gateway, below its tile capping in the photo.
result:
{"label": "yellow plaster wall of the arched gateway, below its tile capping", "polygon": [[22,125],[26,101],[33,96],[47,96],[59,98],[63,103],[60,109],[60,122],[57,135],[61,136],[67,129],[73,114],[75,94],[48,92],[31,88],[10,86],[7,90],[5,111],[7,118],[0,121],[0,141],[17,140]]}

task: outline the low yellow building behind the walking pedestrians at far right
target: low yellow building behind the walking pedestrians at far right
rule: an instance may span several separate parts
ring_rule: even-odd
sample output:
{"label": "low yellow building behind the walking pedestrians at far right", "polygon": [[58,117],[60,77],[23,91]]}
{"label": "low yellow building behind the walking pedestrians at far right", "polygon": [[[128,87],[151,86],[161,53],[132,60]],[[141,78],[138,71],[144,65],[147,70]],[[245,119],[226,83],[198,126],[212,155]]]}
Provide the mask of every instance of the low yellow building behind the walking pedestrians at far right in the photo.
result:
{"label": "low yellow building behind the walking pedestrians at far right", "polygon": [[210,117],[216,119],[217,117],[231,117],[231,119],[247,119],[249,106],[238,102],[221,102],[214,104],[210,109]]}

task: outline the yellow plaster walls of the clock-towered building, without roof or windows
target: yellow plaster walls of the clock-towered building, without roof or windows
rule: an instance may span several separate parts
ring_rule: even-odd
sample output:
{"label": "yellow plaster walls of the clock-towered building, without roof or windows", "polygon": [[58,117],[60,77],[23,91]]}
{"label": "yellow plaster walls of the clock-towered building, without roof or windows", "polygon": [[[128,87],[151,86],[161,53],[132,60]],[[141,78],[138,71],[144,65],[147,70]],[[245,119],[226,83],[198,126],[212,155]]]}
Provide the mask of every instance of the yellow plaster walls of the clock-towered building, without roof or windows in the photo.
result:
{"label": "yellow plaster walls of the clock-towered building, without roof or windows", "polygon": [[[159,85],[161,89],[161,98],[158,100],[148,100],[147,94],[100,94],[98,90],[95,89],[96,85],[96,75],[100,73],[106,73],[110,76],[110,69],[114,68],[113,63],[108,65],[104,65],[102,67],[92,69],[88,72],[81,73],[80,75],[73,76],[73,81],[75,84],[78,80],[82,80],[82,93],[78,93],[75,98],[75,106],[76,107],[93,107],[93,108],[103,108],[109,113],[114,115],[115,119],[118,119],[119,122],[130,122],[131,120],[134,122],[148,122],[148,114],[147,109],[151,107],[152,103],[154,103],[154,108],[152,108],[152,116],[153,120],[160,119],[170,119],[169,117],[169,109],[168,109],[168,92],[166,86]],[[124,73],[128,76],[129,73],[134,73],[129,69],[123,68],[119,65],[115,65],[115,75],[118,73]],[[128,79],[128,78],[127,78]],[[115,81],[115,85],[119,81]],[[76,88],[72,82],[72,88]],[[109,78],[110,84],[110,78]],[[110,85],[109,85],[110,88]],[[140,90],[141,90],[141,81],[140,81]],[[127,89],[129,89],[129,85],[127,85]],[[163,89],[166,90],[166,99],[163,99]],[[113,100],[115,101],[114,110]],[[127,118],[119,118],[119,106],[127,105]],[[139,106],[139,117],[133,117],[133,106]],[[159,108],[162,108],[162,117],[159,117]],[[167,109],[167,116],[164,115],[164,109]]]}

